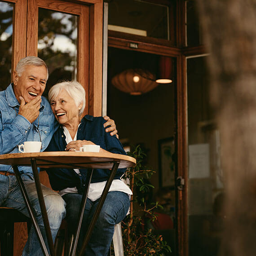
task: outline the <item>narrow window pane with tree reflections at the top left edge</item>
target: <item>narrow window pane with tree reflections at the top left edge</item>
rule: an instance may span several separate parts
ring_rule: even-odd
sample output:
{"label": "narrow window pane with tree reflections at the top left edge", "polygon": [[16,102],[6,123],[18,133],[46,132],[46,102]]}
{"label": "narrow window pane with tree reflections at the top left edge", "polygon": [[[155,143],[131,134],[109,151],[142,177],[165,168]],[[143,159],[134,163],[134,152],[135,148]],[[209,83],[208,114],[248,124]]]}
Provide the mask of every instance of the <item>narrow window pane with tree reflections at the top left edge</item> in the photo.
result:
{"label": "narrow window pane with tree reflections at the top left edge", "polygon": [[0,2],[0,91],[11,81],[13,4]]}

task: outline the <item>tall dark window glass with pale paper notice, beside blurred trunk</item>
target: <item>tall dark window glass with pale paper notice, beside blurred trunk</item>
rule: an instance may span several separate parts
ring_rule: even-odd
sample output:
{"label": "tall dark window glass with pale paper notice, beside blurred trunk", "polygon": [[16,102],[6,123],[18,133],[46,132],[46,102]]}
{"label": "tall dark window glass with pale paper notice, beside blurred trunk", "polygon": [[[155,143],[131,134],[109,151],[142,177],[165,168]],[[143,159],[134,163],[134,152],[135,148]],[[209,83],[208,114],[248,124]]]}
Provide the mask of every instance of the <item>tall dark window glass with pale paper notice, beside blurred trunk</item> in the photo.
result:
{"label": "tall dark window glass with pale paper notice, beside blurred trunk", "polygon": [[221,135],[210,107],[206,62],[187,59],[189,256],[217,256],[225,224]]}

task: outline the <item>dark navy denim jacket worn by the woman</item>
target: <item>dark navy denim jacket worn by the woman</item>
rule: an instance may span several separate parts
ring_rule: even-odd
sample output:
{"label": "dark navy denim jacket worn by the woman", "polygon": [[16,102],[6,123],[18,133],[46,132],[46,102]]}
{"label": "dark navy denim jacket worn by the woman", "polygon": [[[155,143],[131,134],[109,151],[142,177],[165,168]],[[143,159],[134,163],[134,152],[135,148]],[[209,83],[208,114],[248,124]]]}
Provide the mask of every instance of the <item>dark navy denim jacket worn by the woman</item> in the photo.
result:
{"label": "dark navy denim jacket worn by the woman", "polygon": [[[121,142],[117,137],[111,136],[109,132],[105,132],[103,124],[106,120],[103,117],[93,117],[91,115],[85,115],[81,120],[81,124],[77,131],[77,140],[92,141],[96,145],[100,145],[102,149],[105,149],[111,153],[126,154]],[[63,132],[62,126],[60,126],[54,133],[53,138],[47,148],[47,151],[64,151],[66,148],[66,137]],[[80,169],[79,176],[72,169],[65,168],[48,168],[46,169],[51,186],[53,190],[63,190],[67,187],[76,187],[78,190],[86,182],[87,169]],[[114,179],[120,179],[124,174],[126,168],[118,169]],[[110,170],[94,169],[92,183],[106,181],[110,175]]]}

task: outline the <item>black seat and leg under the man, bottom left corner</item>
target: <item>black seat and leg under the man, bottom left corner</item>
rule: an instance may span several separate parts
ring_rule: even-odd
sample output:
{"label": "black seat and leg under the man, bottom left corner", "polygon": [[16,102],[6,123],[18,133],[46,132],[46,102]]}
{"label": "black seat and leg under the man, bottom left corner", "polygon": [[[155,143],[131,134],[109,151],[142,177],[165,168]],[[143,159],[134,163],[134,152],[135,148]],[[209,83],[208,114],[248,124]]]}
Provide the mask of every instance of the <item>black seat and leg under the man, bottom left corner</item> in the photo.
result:
{"label": "black seat and leg under the man, bottom left corner", "polygon": [[30,218],[16,209],[0,207],[0,247],[1,256],[13,256],[14,223],[26,222],[27,229],[31,228]]}

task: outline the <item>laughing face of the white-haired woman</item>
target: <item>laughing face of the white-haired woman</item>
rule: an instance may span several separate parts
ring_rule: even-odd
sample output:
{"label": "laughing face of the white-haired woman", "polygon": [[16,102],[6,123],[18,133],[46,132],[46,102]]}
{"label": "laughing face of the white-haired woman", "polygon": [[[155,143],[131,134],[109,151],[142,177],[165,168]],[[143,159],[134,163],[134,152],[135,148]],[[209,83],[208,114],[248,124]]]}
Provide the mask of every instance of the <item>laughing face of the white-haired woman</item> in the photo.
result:
{"label": "laughing face of the white-haired woman", "polygon": [[74,99],[66,90],[61,90],[55,99],[50,100],[53,114],[57,121],[64,125],[74,125],[79,122],[79,108],[76,106]]}

